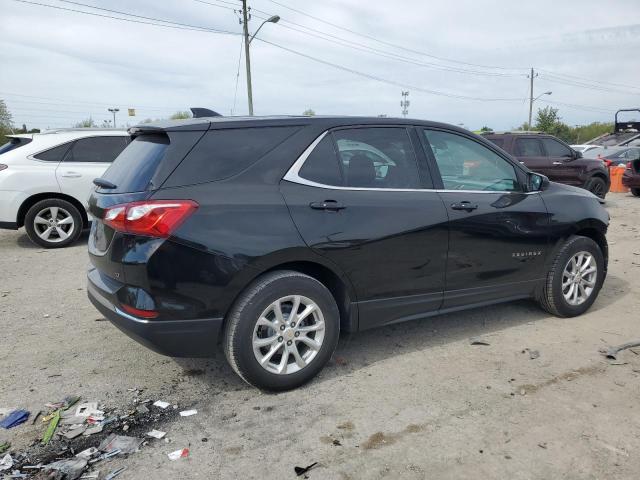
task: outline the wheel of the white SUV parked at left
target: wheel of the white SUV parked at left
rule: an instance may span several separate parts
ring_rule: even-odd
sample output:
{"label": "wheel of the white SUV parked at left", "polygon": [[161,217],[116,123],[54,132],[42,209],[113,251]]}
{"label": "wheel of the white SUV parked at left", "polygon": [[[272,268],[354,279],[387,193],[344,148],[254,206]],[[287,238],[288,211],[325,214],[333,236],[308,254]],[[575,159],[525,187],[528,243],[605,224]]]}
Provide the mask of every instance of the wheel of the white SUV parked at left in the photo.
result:
{"label": "wheel of the white SUV parked at left", "polygon": [[29,239],[44,248],[63,248],[82,234],[82,215],[70,202],[47,198],[35,203],[24,218]]}

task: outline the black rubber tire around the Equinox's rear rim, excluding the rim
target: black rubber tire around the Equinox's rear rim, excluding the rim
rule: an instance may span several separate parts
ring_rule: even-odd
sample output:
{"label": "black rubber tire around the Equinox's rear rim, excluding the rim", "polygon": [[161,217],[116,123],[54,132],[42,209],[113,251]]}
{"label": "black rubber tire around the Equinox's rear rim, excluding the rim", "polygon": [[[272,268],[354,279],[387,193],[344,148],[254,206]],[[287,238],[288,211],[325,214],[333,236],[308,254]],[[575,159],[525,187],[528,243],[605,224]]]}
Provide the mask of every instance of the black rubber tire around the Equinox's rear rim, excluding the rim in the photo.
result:
{"label": "black rubber tire around the Equinox's rear rim, excluding the rim", "polygon": [[[251,293],[250,290],[249,292]],[[277,375],[265,370],[255,358],[253,331],[260,314],[269,304],[288,295],[303,295],[320,307],[325,322],[325,335],[320,352],[307,367],[296,373]],[[239,321],[232,340],[237,352],[237,367],[245,380],[264,390],[289,390],[308,382],[329,361],[338,343],[340,314],[335,300],[324,285],[306,275],[293,274],[277,278],[258,291],[237,314]]]}

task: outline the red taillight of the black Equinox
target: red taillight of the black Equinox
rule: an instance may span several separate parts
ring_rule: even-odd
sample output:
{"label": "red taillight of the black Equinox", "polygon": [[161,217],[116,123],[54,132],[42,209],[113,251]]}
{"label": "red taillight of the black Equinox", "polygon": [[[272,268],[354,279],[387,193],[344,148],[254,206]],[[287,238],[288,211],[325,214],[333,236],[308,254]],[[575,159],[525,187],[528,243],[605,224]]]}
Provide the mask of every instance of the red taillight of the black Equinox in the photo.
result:
{"label": "red taillight of the black Equinox", "polygon": [[166,238],[182,224],[198,204],[191,200],[148,200],[114,205],[103,221],[119,232]]}

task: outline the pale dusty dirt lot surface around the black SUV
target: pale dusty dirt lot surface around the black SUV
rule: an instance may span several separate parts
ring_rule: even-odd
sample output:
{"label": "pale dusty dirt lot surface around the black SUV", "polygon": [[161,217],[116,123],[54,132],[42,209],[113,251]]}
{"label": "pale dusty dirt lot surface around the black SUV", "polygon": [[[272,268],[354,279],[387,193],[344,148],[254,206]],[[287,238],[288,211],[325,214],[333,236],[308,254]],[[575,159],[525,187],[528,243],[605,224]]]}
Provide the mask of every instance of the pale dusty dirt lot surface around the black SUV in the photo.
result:
{"label": "pale dusty dirt lot surface around the black SUV", "polygon": [[[320,378],[278,395],[242,383],[222,354],[162,357],[98,321],[86,238],[47,251],[2,231],[0,407],[77,394],[124,408],[138,387],[198,409],[163,425],[170,443],[104,469],[126,465],[123,480],[295,478],[312,462],[312,479],[638,478],[640,355],[611,365],[598,349],[640,339],[640,199],[611,194],[607,207],[610,273],[587,315],[518,302],[343,337]],[[1,431],[0,443],[23,448],[43,429]],[[182,447],[190,456],[169,461]]]}

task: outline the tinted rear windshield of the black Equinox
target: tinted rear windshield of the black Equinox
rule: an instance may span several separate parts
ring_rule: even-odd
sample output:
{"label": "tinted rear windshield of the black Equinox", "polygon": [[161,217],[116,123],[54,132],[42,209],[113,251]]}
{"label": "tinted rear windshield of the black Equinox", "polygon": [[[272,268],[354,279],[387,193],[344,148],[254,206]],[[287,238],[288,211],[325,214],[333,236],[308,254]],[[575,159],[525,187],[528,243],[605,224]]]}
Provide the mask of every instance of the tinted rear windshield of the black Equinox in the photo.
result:
{"label": "tinted rear windshield of the black Equinox", "polygon": [[104,193],[143,192],[154,188],[150,185],[151,179],[168,146],[169,137],[164,134],[136,137],[102,176],[117,187]]}

